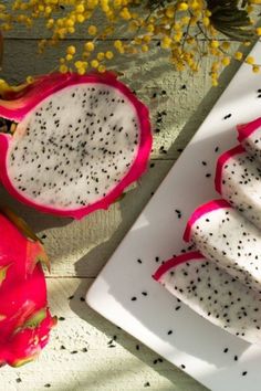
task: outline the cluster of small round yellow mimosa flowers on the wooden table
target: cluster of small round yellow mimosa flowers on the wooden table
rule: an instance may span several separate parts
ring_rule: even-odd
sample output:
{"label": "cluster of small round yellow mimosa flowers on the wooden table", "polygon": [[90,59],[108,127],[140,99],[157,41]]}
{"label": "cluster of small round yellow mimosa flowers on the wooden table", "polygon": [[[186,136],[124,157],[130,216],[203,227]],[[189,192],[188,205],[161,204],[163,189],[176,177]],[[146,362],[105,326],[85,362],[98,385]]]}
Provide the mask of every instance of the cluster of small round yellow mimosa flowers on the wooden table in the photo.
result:
{"label": "cluster of small round yellow mimosa flowers on the wooden table", "polygon": [[[17,22],[32,28],[38,20],[43,20],[46,39],[39,42],[40,52],[72,39],[79,29],[86,32],[88,39],[82,46],[70,44],[59,60],[62,73],[76,71],[82,75],[91,68],[105,72],[115,54],[145,53],[155,42],[169,52],[170,62],[178,71],[197,72],[200,60],[210,56],[213,85],[218,84],[223,67],[234,60],[246,62],[253,72],[260,71],[254,59],[232,52],[230,39],[221,36],[212,25],[206,0],[159,1],[153,11],[144,7],[142,0],[15,0],[9,3],[9,9],[0,6],[0,28],[7,31]],[[261,0],[248,0],[248,12],[257,4],[261,4]],[[112,38],[121,22],[126,23],[132,39],[106,41],[106,44],[112,42],[112,46],[102,51],[105,46],[102,41]],[[261,28],[255,33],[261,36]]]}

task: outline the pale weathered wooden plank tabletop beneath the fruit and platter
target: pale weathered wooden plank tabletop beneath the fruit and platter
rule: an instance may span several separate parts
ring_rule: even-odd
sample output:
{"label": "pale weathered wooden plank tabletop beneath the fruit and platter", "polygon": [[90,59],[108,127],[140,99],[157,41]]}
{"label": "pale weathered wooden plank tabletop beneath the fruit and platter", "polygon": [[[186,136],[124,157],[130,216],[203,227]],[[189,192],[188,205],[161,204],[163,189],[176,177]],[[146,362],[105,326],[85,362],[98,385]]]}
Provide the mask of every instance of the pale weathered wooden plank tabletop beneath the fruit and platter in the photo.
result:
{"label": "pale weathered wooden plank tabletop beneath the fruit and platter", "polygon": [[[81,44],[81,38],[73,44]],[[35,36],[14,31],[6,40],[2,77],[21,82],[27,75],[50,72],[60,51],[36,56]],[[142,61],[115,59],[113,66],[124,72],[123,80],[149,106],[155,133],[148,172],[108,211],[80,222],[62,220],[19,205],[1,190],[1,203],[20,212],[43,239],[52,262],[52,272],[46,273],[50,306],[60,321],[35,362],[1,369],[0,390],[205,390],[170,363],[157,361],[155,352],[94,313],[84,296],[238,66],[227,70],[219,87],[211,88],[205,72],[207,61],[200,73],[191,76],[175,73],[158,49],[143,55]]]}

